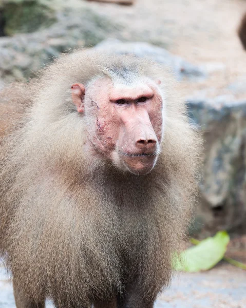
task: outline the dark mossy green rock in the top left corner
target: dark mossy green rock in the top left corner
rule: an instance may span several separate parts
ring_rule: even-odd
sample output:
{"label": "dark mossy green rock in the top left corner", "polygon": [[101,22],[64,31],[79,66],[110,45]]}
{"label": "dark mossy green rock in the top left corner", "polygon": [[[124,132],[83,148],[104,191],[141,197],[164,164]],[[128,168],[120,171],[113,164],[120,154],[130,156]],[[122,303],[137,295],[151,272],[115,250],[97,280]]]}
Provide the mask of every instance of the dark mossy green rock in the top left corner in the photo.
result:
{"label": "dark mossy green rock in the top left corner", "polygon": [[55,10],[47,0],[4,0],[2,16],[5,35],[34,32],[56,21]]}

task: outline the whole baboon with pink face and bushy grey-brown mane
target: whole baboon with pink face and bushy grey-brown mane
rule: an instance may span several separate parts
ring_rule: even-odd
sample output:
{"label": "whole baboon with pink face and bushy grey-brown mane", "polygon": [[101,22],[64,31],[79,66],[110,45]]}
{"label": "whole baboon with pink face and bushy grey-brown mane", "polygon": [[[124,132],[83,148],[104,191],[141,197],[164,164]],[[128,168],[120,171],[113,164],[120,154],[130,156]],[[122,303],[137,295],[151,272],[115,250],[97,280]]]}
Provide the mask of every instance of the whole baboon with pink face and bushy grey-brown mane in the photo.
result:
{"label": "whole baboon with pink face and bushy grey-brown mane", "polygon": [[150,60],[77,51],[18,89],[2,99],[30,107],[0,171],[17,308],[152,308],[198,182],[200,138],[172,77]]}

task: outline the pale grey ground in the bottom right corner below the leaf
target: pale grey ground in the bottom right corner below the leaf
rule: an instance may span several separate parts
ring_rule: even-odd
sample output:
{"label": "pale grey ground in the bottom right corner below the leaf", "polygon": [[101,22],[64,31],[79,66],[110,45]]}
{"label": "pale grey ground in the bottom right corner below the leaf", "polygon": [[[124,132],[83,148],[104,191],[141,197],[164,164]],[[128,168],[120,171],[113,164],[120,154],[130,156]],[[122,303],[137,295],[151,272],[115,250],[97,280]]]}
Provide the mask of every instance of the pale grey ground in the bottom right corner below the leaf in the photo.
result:
{"label": "pale grey ground in the bottom right corner below the leaf", "polygon": [[245,308],[246,272],[221,262],[204,273],[181,274],[155,308]]}

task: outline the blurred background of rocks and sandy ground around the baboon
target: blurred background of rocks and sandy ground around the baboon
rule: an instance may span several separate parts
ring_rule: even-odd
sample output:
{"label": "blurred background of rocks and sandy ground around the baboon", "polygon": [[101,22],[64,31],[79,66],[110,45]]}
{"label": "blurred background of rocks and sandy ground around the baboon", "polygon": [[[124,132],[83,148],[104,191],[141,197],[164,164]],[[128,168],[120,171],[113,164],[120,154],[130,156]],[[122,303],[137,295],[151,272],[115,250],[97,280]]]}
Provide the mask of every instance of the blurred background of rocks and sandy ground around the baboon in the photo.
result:
{"label": "blurred background of rocks and sandy ground around the baboon", "polygon": [[[35,77],[74,48],[135,53],[171,67],[204,139],[191,235],[226,230],[225,256],[246,264],[246,51],[237,35],[244,13],[245,0],[0,0],[0,88]],[[0,107],[1,134],[9,109]],[[8,277],[0,278],[0,308],[13,308]],[[175,278],[156,308],[245,308],[245,290],[245,269],[221,261]]]}

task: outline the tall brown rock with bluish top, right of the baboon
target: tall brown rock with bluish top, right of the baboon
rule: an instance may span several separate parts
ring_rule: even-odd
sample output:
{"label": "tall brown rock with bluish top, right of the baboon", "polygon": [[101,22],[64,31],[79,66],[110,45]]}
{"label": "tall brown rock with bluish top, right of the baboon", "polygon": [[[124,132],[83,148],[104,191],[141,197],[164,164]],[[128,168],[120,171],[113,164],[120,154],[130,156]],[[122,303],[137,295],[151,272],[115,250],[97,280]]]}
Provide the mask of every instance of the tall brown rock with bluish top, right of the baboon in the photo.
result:
{"label": "tall brown rock with bluish top, right of the baboon", "polygon": [[204,176],[197,220],[211,230],[246,219],[246,100],[188,99],[191,120],[204,139]]}

